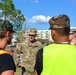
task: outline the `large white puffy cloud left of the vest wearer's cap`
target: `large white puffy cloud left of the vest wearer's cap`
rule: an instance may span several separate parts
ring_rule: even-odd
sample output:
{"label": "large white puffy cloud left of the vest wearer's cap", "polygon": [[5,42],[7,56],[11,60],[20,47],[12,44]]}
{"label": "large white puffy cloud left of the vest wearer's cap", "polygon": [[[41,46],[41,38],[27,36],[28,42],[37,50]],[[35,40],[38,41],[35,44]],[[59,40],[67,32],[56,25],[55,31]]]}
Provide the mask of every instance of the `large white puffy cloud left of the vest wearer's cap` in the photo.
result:
{"label": "large white puffy cloud left of the vest wearer's cap", "polygon": [[30,23],[36,23],[36,24],[47,24],[48,20],[50,19],[50,16],[44,16],[44,15],[37,15],[33,16],[28,22]]}

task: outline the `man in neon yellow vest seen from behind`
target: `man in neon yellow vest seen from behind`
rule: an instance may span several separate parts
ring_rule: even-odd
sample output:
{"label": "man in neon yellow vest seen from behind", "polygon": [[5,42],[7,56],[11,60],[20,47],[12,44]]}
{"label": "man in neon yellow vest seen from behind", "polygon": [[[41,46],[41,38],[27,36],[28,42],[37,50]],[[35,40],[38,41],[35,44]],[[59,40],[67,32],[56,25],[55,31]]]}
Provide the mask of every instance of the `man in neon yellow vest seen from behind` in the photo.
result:
{"label": "man in neon yellow vest seen from behind", "polygon": [[69,42],[69,17],[54,16],[49,24],[55,43],[38,51],[35,65],[38,75],[76,75],[76,47]]}

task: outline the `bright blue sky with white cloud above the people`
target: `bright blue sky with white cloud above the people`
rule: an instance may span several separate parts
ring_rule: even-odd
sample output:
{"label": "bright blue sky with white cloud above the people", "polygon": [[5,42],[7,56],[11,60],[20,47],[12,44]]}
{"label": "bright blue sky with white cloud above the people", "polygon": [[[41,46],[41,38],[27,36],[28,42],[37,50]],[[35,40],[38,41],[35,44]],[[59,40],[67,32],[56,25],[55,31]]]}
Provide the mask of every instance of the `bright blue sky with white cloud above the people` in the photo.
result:
{"label": "bright blue sky with white cloud above the people", "polygon": [[76,0],[12,0],[16,9],[21,10],[26,21],[23,28],[49,29],[49,19],[66,14],[71,27],[76,27]]}

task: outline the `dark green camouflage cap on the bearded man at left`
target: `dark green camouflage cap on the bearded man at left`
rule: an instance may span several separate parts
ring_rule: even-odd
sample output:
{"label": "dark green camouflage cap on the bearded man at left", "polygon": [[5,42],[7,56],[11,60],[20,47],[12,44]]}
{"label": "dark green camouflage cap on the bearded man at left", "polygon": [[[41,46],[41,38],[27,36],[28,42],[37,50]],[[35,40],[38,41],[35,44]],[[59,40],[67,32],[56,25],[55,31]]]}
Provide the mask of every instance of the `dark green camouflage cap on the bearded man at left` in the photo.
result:
{"label": "dark green camouflage cap on the bearded man at left", "polygon": [[13,30],[13,25],[7,20],[0,20],[0,31],[15,32]]}

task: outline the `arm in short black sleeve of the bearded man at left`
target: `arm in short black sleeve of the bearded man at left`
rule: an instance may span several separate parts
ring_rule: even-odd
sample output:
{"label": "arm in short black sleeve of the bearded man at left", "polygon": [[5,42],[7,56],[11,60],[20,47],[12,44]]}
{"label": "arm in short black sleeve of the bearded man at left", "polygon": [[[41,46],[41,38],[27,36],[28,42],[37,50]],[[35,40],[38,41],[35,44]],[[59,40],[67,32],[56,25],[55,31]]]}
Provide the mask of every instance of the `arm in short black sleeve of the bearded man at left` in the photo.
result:
{"label": "arm in short black sleeve of the bearded man at left", "polygon": [[16,67],[12,56],[9,54],[4,54],[0,58],[0,75],[14,75]]}

